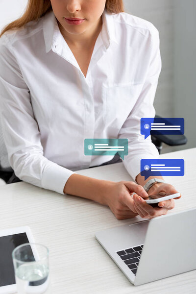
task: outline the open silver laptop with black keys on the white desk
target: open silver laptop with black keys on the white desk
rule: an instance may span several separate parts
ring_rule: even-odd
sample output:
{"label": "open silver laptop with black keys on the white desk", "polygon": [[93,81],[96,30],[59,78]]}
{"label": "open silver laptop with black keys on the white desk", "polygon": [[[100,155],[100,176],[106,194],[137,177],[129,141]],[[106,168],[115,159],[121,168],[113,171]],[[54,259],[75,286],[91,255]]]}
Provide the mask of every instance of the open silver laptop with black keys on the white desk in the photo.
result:
{"label": "open silver laptop with black keys on the white desk", "polygon": [[95,236],[135,286],[196,269],[196,208]]}

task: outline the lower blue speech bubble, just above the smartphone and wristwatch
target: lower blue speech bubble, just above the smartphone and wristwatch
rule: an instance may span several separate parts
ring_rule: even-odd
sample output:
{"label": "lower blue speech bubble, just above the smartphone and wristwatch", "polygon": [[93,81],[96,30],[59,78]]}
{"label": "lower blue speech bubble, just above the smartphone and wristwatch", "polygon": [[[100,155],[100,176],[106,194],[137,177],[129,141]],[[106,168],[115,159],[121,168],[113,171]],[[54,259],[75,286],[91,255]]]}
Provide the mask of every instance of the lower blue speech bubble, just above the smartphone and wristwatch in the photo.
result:
{"label": "lower blue speech bubble, just above the smartphone and wristwatch", "polygon": [[141,159],[141,175],[149,176],[184,175],[184,159]]}

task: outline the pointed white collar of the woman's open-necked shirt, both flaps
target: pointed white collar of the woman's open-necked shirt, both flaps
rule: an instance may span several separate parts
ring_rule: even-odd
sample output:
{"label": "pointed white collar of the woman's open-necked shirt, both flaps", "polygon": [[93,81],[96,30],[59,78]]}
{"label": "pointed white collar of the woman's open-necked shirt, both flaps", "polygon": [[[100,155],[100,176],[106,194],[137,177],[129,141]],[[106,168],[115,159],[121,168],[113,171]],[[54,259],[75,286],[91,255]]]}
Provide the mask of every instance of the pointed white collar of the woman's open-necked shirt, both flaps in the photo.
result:
{"label": "pointed white collar of the woman's open-necked shirt, both flaps", "polygon": [[[55,46],[57,39],[59,38],[59,35],[61,35],[53,10],[49,11],[44,16],[43,32],[46,45],[46,52],[48,53],[49,50],[53,48],[53,46]],[[112,41],[118,44],[117,36],[115,34],[113,15],[107,13],[106,9],[104,9],[102,14],[101,38],[106,49],[108,49]]]}

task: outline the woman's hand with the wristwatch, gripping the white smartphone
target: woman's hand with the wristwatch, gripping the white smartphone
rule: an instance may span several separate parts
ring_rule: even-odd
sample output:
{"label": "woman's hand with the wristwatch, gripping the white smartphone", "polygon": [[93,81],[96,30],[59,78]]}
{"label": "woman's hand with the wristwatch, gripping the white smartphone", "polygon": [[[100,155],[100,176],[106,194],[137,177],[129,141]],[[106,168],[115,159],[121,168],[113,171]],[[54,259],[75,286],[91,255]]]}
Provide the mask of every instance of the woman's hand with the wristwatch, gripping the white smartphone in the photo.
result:
{"label": "woman's hand with the wristwatch, gripping the white smartphone", "polygon": [[[149,190],[148,190],[148,195],[154,195],[154,194],[161,194],[165,195],[166,193],[177,193],[176,189],[166,183],[155,183]],[[176,197],[174,199],[179,199],[179,197]],[[154,217],[158,217],[161,215],[166,215],[168,213],[169,209],[173,209],[175,204],[174,204],[174,199],[170,200],[165,200],[159,202],[158,206],[159,207],[152,207],[149,204],[146,203],[146,201],[137,195],[133,196],[134,199],[134,209],[135,211],[141,216],[143,219],[152,219]]]}

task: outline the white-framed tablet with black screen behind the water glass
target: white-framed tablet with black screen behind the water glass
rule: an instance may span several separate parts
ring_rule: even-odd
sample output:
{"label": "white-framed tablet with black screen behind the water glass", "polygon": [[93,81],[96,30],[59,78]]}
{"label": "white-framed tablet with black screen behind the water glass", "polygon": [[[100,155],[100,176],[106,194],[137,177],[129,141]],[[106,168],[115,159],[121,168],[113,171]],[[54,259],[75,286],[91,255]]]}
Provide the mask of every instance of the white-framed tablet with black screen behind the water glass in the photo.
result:
{"label": "white-framed tablet with black screen behind the water glass", "polygon": [[28,226],[0,230],[0,294],[17,292],[12,251],[24,243],[35,243]]}

